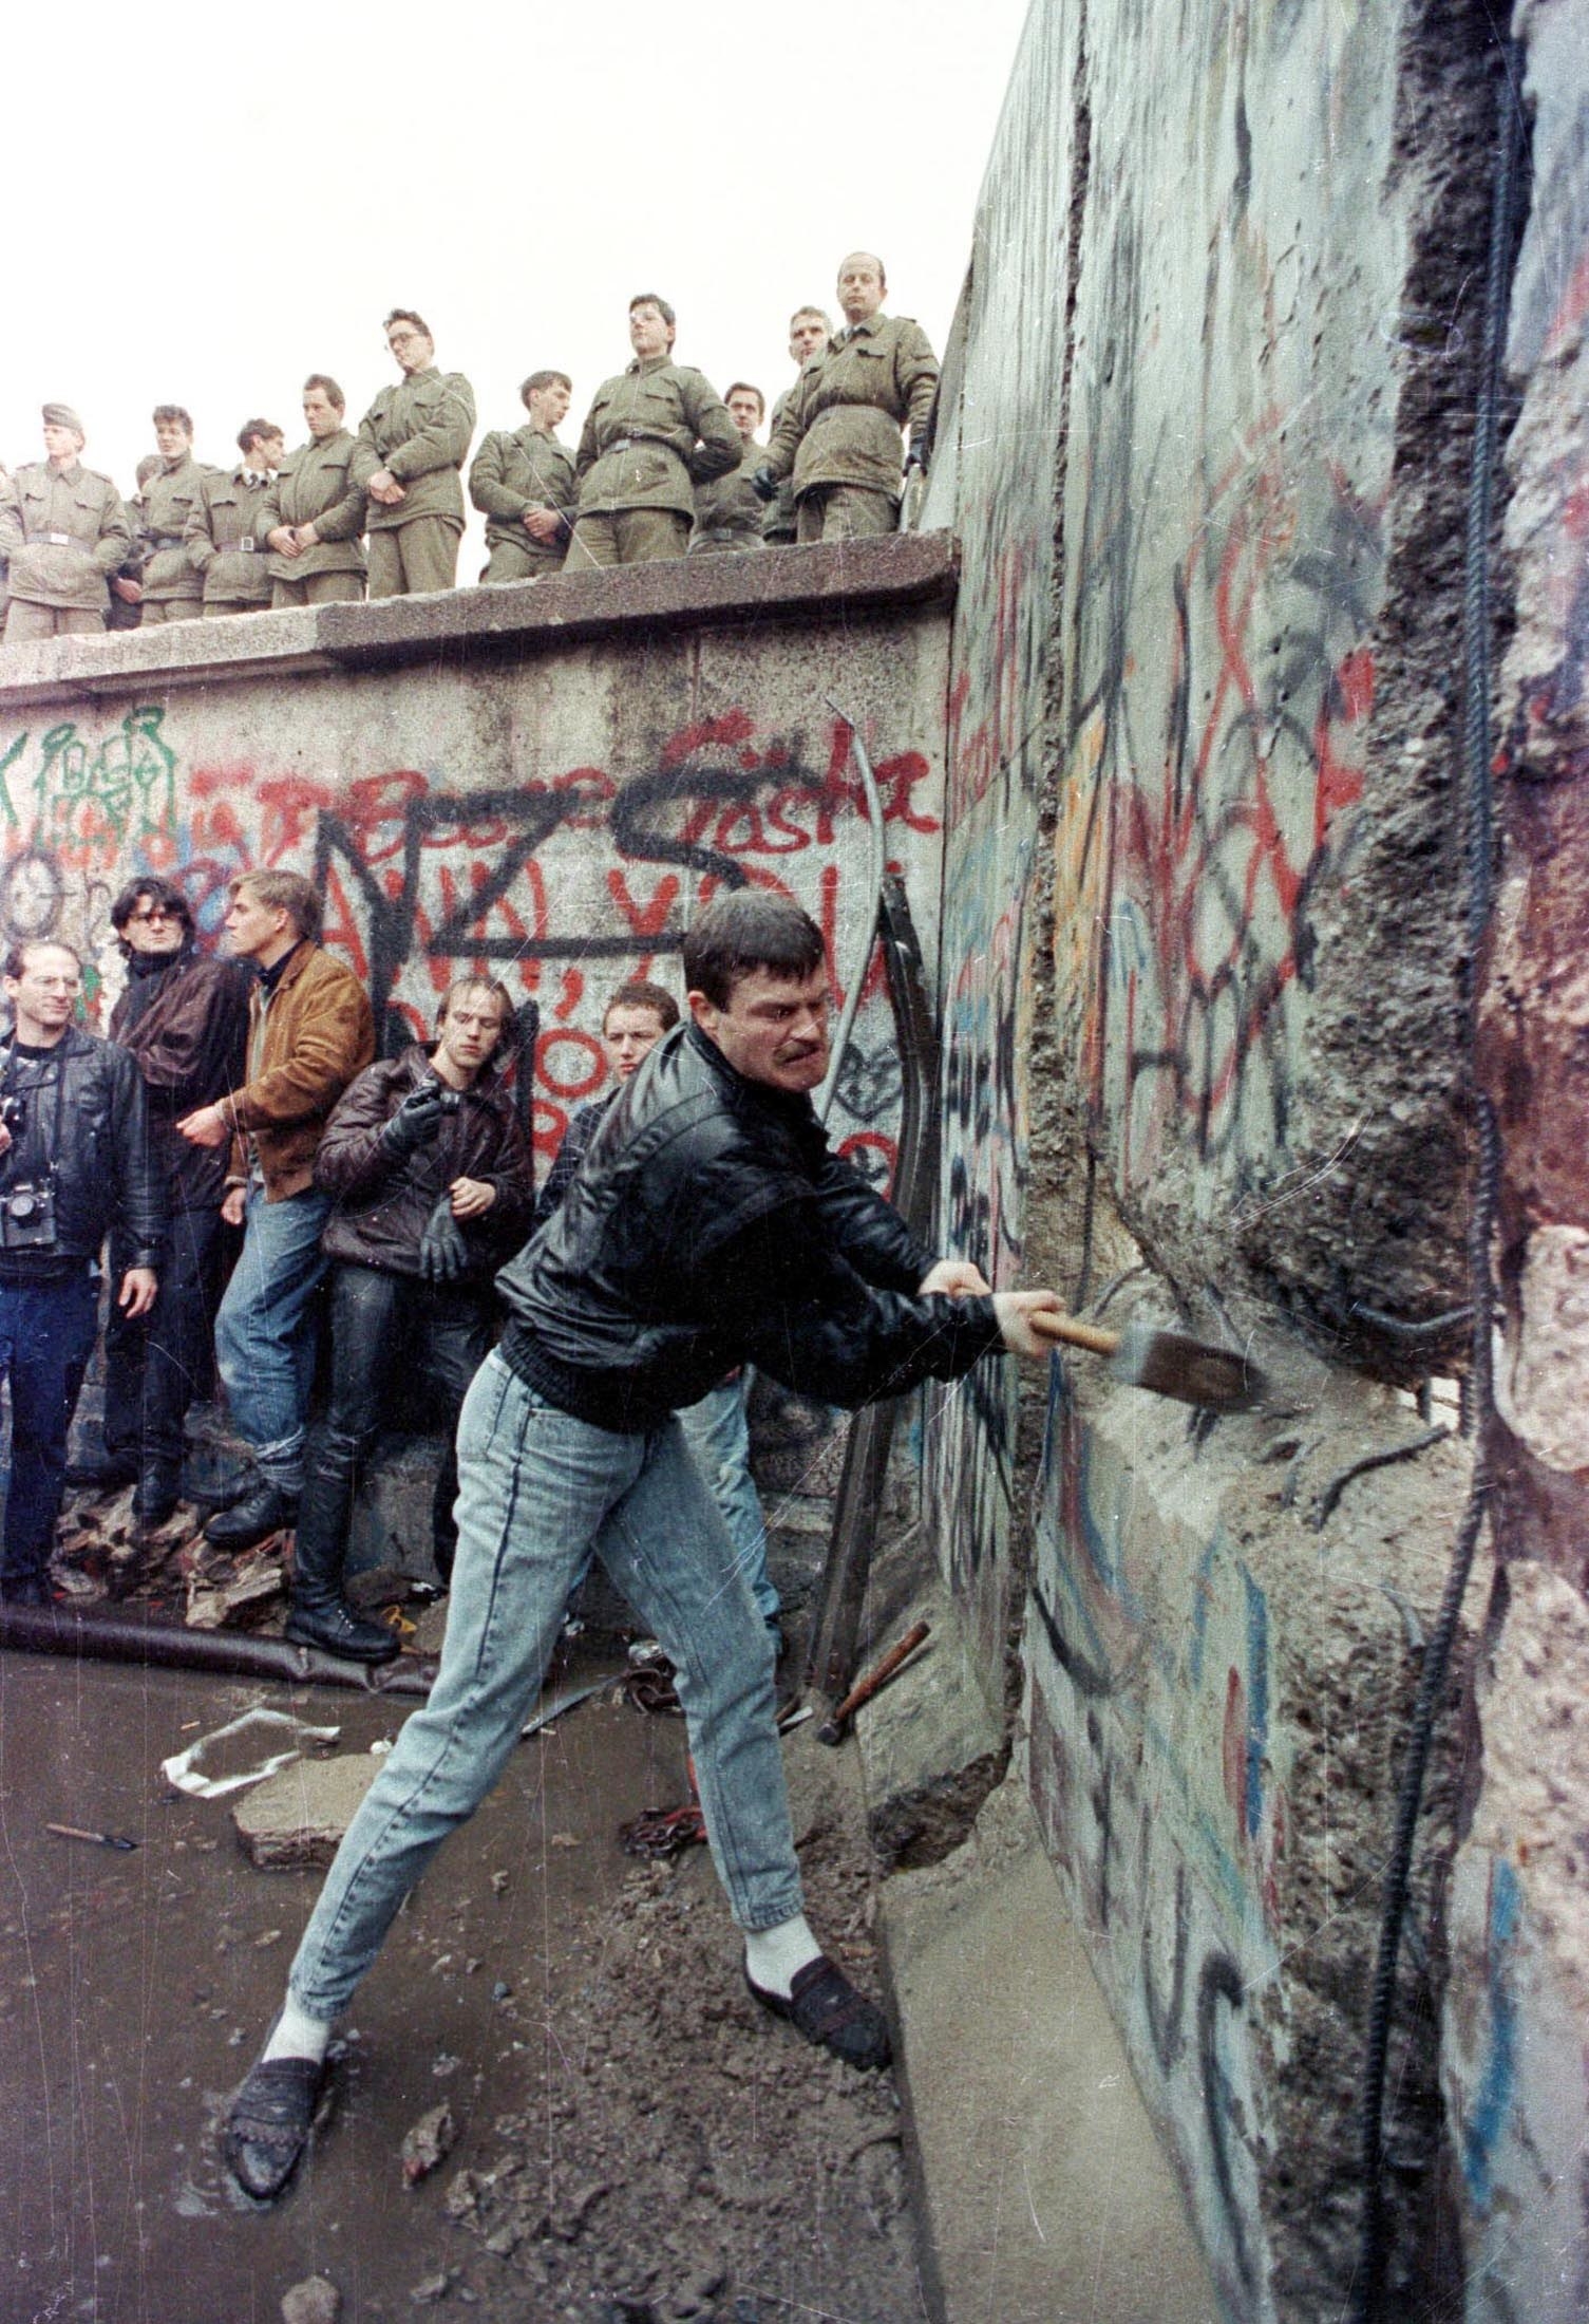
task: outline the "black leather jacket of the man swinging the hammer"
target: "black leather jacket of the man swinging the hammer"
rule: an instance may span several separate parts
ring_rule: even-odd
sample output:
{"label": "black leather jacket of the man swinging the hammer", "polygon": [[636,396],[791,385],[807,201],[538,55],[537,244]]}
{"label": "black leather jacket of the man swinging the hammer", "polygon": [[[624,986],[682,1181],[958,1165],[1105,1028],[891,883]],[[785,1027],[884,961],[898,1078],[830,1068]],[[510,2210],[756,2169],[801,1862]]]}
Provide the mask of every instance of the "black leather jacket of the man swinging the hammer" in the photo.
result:
{"label": "black leather jacket of the man swinging the hammer", "polygon": [[832,1404],[955,1380],[992,1299],[918,1299],[897,1211],[829,1153],[808,1097],[746,1081],[695,1025],[646,1057],[562,1208],[497,1276],[506,1362],[602,1429],[646,1432],[734,1364]]}

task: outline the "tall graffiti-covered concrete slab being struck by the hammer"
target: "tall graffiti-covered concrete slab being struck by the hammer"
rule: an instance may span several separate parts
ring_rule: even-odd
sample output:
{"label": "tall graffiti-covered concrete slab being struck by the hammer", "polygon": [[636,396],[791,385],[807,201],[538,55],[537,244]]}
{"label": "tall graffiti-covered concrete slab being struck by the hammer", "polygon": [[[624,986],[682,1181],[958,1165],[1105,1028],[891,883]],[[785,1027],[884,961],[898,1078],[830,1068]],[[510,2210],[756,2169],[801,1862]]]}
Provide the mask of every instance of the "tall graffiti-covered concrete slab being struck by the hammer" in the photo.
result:
{"label": "tall graffiti-covered concrete slab being struck by the hammer", "polygon": [[[1466,1297],[1494,58],[1466,7],[1038,0],[941,428],[946,1232],[1078,1304],[1124,1276],[1103,1320],[1231,1329],[1275,1376],[1206,1427],[1064,1364],[1045,1413],[950,1399],[932,1450],[943,1573],[990,1692],[1020,1636],[1018,1759],[1234,2317],[1352,2282],[1378,1873],[1468,1476],[1405,1383],[1459,1360],[1408,1327]],[[1454,1715],[1396,2298],[1450,2291]]]}

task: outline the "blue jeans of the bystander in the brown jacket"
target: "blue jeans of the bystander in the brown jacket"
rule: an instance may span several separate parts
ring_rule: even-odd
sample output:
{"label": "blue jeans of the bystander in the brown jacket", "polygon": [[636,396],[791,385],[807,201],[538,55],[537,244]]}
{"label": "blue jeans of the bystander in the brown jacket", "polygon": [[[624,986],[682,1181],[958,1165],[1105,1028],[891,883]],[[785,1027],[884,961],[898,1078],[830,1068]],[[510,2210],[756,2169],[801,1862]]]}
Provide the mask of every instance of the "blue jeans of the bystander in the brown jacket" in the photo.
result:
{"label": "blue jeans of the bystander in the brown jacket", "polygon": [[216,1315],[216,1369],[237,1434],[279,1492],[304,1483],[304,1408],[314,1380],[314,1294],[328,1260],[330,1195],[265,1202],[249,1181],[244,1246]]}

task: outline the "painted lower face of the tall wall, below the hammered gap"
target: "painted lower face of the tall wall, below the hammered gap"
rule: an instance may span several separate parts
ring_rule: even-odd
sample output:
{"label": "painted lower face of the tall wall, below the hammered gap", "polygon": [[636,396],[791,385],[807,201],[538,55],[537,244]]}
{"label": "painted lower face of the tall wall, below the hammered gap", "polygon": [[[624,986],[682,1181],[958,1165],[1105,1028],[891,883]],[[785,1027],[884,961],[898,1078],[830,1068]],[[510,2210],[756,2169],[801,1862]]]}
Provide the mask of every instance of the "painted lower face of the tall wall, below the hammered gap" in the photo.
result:
{"label": "painted lower face of the tall wall, below the hammered gap", "polygon": [[[1182,1601],[1127,1466],[1050,1399],[1029,1622],[1029,1783],[1150,2099],[1175,2122],[1203,2245],[1257,2310],[1257,1989],[1278,1961],[1287,1799],[1268,1604],[1215,1529]],[[1173,1543],[1169,1545],[1175,1548]]]}

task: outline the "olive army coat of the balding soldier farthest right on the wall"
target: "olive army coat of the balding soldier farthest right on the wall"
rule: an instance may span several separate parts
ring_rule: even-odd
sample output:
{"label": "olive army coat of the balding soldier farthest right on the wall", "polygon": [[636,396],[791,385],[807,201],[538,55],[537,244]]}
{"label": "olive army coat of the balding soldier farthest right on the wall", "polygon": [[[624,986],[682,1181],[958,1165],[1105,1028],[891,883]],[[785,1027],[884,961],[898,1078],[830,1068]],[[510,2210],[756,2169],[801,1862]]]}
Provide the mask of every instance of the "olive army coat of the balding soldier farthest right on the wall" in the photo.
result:
{"label": "olive army coat of the balding soldier farthest right on the wall", "polygon": [[927,428],[939,358],[906,314],[869,314],[841,330],[794,381],[767,446],[774,476],[794,476],[794,497],[825,483],[860,483],[899,500],[899,430]]}

